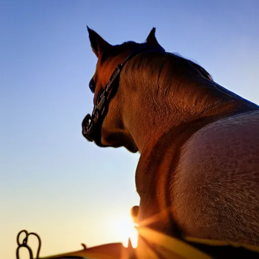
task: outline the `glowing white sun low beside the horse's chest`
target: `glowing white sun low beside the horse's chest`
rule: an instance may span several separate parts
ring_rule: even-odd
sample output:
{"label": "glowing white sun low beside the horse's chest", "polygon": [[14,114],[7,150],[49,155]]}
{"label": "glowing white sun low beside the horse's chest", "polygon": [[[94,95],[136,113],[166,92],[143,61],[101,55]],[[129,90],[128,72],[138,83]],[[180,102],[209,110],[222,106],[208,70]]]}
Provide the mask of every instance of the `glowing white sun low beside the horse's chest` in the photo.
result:
{"label": "glowing white sun low beside the horse's chest", "polygon": [[137,226],[131,217],[116,217],[114,222],[114,231],[116,236],[120,239],[124,247],[127,247],[128,238],[131,239],[133,248],[137,247],[138,244],[138,231],[135,228]]}

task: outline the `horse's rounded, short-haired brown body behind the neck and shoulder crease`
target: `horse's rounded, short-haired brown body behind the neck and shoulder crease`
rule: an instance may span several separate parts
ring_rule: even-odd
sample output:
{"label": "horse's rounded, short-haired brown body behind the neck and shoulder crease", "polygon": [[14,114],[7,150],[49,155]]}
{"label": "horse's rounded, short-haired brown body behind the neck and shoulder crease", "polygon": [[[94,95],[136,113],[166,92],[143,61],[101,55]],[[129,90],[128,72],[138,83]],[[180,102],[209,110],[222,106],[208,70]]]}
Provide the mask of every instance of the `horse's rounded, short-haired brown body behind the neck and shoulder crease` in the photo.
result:
{"label": "horse's rounded, short-haired brown body behind the neck and shoulder crease", "polygon": [[196,132],[172,183],[175,217],[187,235],[259,245],[259,111]]}

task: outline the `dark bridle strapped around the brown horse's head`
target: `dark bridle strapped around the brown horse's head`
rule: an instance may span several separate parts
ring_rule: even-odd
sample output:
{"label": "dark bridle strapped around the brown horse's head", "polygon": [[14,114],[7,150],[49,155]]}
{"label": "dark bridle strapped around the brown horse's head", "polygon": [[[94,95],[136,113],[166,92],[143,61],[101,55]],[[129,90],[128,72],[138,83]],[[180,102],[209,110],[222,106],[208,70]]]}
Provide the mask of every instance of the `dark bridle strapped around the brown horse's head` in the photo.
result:
{"label": "dark bridle strapped around the brown horse's head", "polygon": [[[161,52],[164,50],[162,48],[150,45],[142,45],[138,49],[134,50],[127,58],[119,64],[114,72],[112,73],[109,82],[106,84],[103,92],[99,95],[96,105],[94,106],[92,115],[87,114],[83,121],[82,121],[82,135],[88,141],[93,142],[96,141],[97,136],[101,136],[101,128],[103,120],[108,112],[109,103],[114,96],[116,90],[118,89],[119,85],[119,76],[121,70],[123,69],[124,65],[127,61],[135,57],[140,53],[147,53],[147,52]],[[105,147],[105,145],[101,144],[99,140],[99,146]]]}

